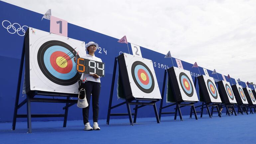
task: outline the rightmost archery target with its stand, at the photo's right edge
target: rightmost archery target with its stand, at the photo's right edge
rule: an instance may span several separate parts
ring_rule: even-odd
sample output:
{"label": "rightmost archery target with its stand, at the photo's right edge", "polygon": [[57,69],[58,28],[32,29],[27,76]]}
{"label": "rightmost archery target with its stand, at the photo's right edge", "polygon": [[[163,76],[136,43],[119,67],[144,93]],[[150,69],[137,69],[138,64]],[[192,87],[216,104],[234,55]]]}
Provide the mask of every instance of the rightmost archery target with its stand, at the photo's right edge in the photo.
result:
{"label": "rightmost archery target with its stand, at the photo's right edge", "polygon": [[[253,114],[256,112],[256,109],[255,109],[256,100],[255,100],[255,97],[253,96],[252,90],[248,87],[245,87],[243,88],[243,91],[248,101],[247,111],[250,109],[250,114]],[[252,109],[254,109],[254,111]]]}

